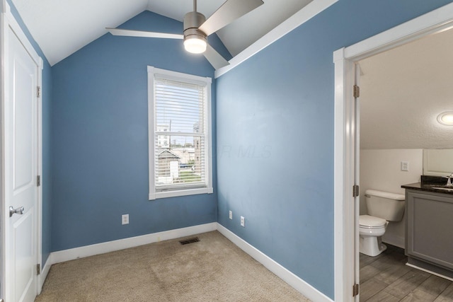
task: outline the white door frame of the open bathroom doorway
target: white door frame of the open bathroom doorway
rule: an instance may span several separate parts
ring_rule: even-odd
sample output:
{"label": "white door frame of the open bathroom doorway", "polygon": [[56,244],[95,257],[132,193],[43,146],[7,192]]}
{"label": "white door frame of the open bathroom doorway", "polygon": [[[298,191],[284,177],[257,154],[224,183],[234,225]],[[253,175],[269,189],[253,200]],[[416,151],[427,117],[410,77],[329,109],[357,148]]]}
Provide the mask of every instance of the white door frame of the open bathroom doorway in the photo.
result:
{"label": "white door frame of the open bathroom doorway", "polygon": [[[352,298],[352,286],[359,282],[354,263],[358,264],[357,200],[352,197],[355,185],[355,119],[352,95],[355,63],[374,54],[391,50],[420,37],[453,28],[453,4],[369,37],[333,52],[335,63],[335,134],[334,134],[334,257],[335,301],[358,301]],[[357,112],[358,113],[358,112]],[[358,154],[357,154],[358,156]],[[358,185],[358,184],[357,184]]]}

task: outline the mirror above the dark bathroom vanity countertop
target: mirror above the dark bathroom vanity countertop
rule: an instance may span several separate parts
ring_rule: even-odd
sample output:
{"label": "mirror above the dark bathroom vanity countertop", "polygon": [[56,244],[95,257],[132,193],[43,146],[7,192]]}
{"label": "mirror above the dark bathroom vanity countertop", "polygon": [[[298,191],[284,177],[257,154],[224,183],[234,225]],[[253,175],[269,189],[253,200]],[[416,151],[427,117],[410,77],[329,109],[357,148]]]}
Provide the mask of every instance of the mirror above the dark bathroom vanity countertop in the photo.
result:
{"label": "mirror above the dark bathroom vanity countertop", "polygon": [[453,173],[453,149],[423,149],[423,175],[447,176]]}

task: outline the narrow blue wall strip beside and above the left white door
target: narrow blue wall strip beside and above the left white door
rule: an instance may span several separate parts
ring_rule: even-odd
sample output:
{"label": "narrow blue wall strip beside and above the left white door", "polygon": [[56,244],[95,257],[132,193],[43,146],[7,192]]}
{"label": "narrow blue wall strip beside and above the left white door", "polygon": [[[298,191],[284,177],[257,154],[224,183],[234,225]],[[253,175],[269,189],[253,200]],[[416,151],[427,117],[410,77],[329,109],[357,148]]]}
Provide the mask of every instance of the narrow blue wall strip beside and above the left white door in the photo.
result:
{"label": "narrow blue wall strip beside and above the left white door", "polygon": [[11,6],[11,13],[28,37],[31,45],[44,61],[42,70],[42,265],[45,264],[51,252],[51,209],[52,209],[52,148],[51,145],[51,104],[52,104],[52,76],[50,64],[35,42],[28,28],[19,16],[11,0],[6,1]]}

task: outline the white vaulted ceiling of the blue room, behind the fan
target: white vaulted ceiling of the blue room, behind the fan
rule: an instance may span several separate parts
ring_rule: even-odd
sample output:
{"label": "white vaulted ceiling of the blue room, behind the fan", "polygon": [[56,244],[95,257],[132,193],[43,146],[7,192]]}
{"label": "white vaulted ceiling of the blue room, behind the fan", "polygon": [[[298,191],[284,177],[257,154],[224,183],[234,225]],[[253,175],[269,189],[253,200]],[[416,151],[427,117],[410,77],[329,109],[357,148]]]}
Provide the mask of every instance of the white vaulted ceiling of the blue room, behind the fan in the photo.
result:
{"label": "white vaulted ceiling of the blue room, behind the fan", "polygon": [[[12,0],[51,65],[144,10],[183,21],[192,0]],[[312,0],[263,0],[265,4],[217,31],[235,56]],[[207,18],[224,0],[198,0]],[[182,28],[181,28],[182,31]]]}

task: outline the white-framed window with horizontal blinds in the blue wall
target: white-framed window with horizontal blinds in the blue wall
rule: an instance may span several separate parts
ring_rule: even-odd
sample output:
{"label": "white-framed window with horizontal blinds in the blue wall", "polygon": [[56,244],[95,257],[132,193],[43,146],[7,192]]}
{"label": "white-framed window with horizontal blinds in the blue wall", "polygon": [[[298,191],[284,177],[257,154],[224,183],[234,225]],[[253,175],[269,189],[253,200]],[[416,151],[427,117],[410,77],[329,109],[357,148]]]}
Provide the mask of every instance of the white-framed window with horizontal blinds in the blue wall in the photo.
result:
{"label": "white-framed window with horizontal blinds in the blue wall", "polygon": [[148,66],[149,199],[212,193],[211,79]]}

